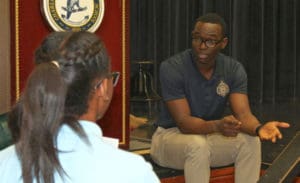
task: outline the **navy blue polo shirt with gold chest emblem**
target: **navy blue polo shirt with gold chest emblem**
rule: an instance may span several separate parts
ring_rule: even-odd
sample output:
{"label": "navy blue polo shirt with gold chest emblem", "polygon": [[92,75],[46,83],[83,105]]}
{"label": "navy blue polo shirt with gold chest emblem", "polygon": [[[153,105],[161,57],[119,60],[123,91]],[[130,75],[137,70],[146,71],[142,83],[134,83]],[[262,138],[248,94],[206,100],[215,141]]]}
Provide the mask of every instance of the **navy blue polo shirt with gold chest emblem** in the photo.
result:
{"label": "navy blue polo shirt with gold chest emblem", "polygon": [[157,125],[164,128],[176,126],[165,101],[186,98],[192,116],[216,120],[222,117],[230,93],[247,94],[247,74],[242,64],[221,53],[209,80],[198,71],[191,49],[162,62],[159,72],[163,102]]}

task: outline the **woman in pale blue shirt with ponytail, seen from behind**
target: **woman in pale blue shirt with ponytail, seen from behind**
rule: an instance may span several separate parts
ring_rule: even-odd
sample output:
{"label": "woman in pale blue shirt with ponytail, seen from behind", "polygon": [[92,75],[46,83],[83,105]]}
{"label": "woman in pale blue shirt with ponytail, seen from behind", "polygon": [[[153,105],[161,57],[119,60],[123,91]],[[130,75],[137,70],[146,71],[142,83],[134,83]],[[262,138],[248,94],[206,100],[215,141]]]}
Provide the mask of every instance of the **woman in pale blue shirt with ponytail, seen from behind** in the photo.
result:
{"label": "woman in pale blue shirt with ponytail, seen from behind", "polygon": [[118,76],[95,34],[66,36],[59,59],[27,81],[15,144],[0,152],[0,182],[159,182],[142,157],[105,143],[96,124]]}

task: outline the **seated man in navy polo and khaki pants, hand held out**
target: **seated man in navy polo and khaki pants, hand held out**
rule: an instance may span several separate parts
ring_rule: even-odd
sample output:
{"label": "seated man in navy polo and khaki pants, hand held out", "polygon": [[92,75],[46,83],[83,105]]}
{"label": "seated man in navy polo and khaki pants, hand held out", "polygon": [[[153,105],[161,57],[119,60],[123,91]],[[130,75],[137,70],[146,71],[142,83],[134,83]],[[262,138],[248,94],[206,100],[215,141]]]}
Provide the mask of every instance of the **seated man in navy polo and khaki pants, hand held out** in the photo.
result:
{"label": "seated man in navy polo and khaki pants, hand held out", "polygon": [[[151,156],[161,166],[184,169],[186,183],[209,182],[210,167],[234,163],[236,183],[255,183],[261,165],[259,139],[282,138],[271,121],[261,125],[251,113],[247,74],[225,48],[226,24],[217,14],[197,19],[192,49],[160,66],[164,105],[152,137]],[[229,103],[233,115],[223,116]]]}

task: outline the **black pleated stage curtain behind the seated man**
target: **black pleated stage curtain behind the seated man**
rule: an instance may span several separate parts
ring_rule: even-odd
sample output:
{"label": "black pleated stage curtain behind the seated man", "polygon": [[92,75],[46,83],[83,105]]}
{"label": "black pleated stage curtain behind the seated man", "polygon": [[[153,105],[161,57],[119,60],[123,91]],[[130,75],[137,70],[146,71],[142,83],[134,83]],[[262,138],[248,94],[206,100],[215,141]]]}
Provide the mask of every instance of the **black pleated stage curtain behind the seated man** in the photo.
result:
{"label": "black pleated stage curtain behind the seated man", "polygon": [[299,100],[299,0],[131,0],[130,60],[154,61],[158,92],[160,62],[190,48],[194,21],[207,12],[227,22],[229,44],[223,52],[244,65],[250,101]]}

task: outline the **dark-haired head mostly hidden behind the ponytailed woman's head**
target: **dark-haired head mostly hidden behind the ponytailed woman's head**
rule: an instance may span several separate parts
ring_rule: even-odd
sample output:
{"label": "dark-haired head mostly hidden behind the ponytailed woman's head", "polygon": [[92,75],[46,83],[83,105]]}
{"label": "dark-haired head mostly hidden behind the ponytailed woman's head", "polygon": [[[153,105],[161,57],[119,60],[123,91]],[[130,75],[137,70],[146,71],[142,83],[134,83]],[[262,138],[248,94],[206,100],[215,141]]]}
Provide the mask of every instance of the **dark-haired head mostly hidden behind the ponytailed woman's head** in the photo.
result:
{"label": "dark-haired head mostly hidden behind the ponytailed woman's head", "polygon": [[35,64],[51,62],[59,58],[58,48],[70,32],[52,32],[48,34],[34,52]]}

